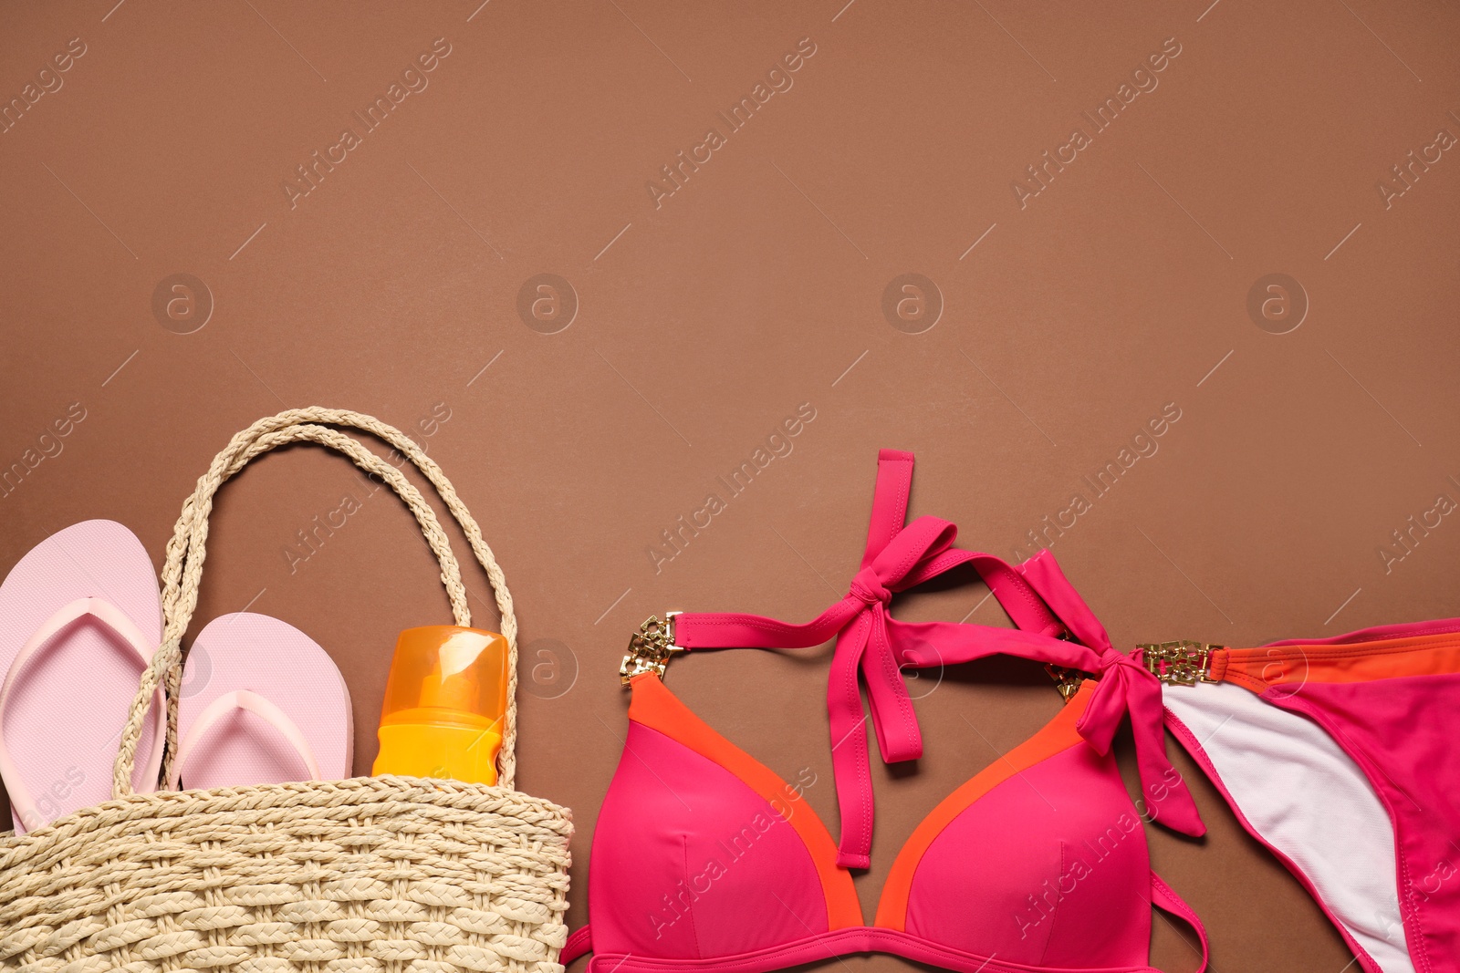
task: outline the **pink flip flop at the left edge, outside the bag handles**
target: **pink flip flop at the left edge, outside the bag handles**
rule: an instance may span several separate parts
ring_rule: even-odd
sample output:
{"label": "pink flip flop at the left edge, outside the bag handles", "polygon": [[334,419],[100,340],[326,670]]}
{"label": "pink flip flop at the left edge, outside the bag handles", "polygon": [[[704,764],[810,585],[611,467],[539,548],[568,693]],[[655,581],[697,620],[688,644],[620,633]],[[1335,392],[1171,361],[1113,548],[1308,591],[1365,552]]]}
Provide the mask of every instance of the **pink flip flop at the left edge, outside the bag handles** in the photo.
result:
{"label": "pink flip flop at the left edge, outside the bag handles", "polygon": [[[131,531],[83,521],[36,544],[0,584],[0,779],[16,833],[111,796],[137,680],[162,640],[158,579]],[[156,789],[162,693],[133,788]]]}

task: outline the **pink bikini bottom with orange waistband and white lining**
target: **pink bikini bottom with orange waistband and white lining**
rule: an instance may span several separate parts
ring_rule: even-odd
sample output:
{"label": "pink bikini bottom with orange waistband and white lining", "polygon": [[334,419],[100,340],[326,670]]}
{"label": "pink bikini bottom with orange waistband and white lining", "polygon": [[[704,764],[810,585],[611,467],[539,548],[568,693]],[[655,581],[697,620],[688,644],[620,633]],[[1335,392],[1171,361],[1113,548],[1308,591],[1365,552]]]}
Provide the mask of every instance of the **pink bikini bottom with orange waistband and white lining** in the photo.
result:
{"label": "pink bikini bottom with orange waistband and white lining", "polygon": [[1364,970],[1460,972],[1460,619],[1142,648],[1171,731]]}

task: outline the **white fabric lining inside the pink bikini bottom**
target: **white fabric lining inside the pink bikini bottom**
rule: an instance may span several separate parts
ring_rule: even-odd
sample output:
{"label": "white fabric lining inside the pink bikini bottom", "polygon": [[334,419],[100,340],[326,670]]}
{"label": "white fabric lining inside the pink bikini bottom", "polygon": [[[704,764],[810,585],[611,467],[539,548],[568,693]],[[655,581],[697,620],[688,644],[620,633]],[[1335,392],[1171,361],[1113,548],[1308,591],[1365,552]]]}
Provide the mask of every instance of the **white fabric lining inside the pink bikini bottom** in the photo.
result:
{"label": "white fabric lining inside the pink bikini bottom", "polygon": [[1257,836],[1298,867],[1383,973],[1415,973],[1394,827],[1359,766],[1315,722],[1241,686],[1167,686],[1164,699]]}

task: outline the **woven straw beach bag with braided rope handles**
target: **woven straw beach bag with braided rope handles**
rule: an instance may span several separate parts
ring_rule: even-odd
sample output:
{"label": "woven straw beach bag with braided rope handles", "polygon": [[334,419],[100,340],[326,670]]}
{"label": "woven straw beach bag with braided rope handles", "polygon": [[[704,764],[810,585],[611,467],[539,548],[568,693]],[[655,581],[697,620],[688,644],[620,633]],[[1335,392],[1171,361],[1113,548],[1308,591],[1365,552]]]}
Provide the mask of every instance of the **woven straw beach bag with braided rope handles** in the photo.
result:
{"label": "woven straw beach bag with braided rope handles", "polygon": [[[491,579],[512,667],[499,786],[416,778],[133,794],[147,706],[168,700],[177,750],[182,635],[197,605],[213,493],[261,452],[315,442],[383,480],[416,515],[456,623],[466,588],[431,506],[353,426],[409,458],[445,500]],[[197,481],[168,543],[164,643],[123,731],[112,799],[0,837],[0,970],[28,973],[561,973],[569,813],[512,786],[517,620],[502,570],[441,468],[359,413],[299,408],[234,436]]]}

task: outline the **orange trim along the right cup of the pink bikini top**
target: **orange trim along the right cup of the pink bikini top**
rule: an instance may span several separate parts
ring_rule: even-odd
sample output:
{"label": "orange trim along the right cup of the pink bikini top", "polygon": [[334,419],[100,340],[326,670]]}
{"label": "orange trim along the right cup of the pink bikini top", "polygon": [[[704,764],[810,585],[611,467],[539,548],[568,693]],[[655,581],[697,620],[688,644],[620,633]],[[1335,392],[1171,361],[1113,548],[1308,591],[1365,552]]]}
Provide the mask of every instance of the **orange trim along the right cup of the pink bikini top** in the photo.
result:
{"label": "orange trim along the right cup of the pink bikini top", "polygon": [[917,867],[923,862],[923,855],[927,853],[933,840],[943,833],[943,829],[953,823],[953,818],[1016,773],[1022,773],[1034,764],[1048,760],[1054,754],[1063,753],[1083,741],[1075,724],[1085,713],[1085,708],[1089,705],[1094,693],[1095,681],[1085,680],[1075,697],[1042,729],[997,761],[984,767],[961,788],[949,794],[942,804],[923,818],[923,823],[914,829],[912,836],[892,862],[888,881],[882,887],[882,899],[877,902],[876,926],[899,932],[905,931],[912,877],[917,874]]}

